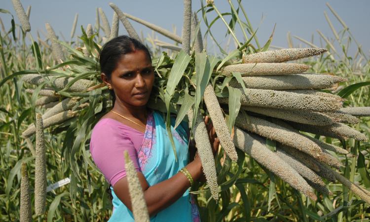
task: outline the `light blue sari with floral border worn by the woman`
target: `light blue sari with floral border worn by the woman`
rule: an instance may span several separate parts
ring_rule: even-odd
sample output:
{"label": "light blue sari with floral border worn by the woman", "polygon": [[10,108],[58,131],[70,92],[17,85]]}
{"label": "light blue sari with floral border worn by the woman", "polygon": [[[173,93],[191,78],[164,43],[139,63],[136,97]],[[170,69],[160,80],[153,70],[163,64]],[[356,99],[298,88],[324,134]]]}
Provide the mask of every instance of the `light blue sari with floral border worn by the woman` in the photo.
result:
{"label": "light blue sari with floral border worn by the woman", "polygon": [[[177,174],[188,163],[187,124],[182,122],[176,129],[175,120],[171,119],[171,130],[176,146],[177,158],[162,113],[153,111],[148,115],[143,144],[138,151],[138,162],[148,185],[155,185]],[[168,187],[171,189],[171,187]],[[109,222],[134,222],[132,212],[112,191],[113,213]],[[199,212],[193,197],[187,190],[175,203],[150,218],[150,222],[199,222]]]}

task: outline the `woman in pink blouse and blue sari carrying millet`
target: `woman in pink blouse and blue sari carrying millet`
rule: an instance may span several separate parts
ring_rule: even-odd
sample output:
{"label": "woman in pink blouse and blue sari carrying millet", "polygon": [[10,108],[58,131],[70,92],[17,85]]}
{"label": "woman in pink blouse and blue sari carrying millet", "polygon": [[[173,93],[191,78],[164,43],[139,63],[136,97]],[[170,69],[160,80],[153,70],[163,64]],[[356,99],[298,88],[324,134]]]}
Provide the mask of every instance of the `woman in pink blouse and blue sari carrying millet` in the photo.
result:
{"label": "woman in pink blouse and blue sari carrying millet", "polygon": [[[178,157],[175,160],[163,113],[150,111],[146,106],[154,82],[148,49],[136,39],[116,37],[103,46],[99,62],[101,78],[114,99],[112,110],[93,129],[90,150],[111,185],[110,221],[133,221],[124,150],[135,163],[151,221],[199,221],[188,189],[193,181],[202,178],[201,162],[197,154],[189,162],[185,122],[176,129],[172,127]],[[216,150],[219,141],[212,124],[207,128]]]}

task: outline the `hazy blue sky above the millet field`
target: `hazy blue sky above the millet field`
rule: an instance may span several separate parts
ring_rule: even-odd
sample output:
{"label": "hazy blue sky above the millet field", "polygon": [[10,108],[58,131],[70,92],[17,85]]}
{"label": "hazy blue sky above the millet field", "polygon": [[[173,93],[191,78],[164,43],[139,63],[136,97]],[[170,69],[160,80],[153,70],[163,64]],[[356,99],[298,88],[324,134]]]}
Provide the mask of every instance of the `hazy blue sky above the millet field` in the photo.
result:
{"label": "hazy blue sky above the millet field", "polygon": [[[142,19],[148,20],[156,25],[164,27],[168,30],[177,28],[177,34],[181,35],[182,17],[183,17],[183,1],[182,0],[21,0],[23,7],[26,9],[28,5],[32,5],[31,9],[31,34],[36,37],[36,31],[42,30],[45,33],[45,23],[52,25],[58,35],[60,33],[70,40],[72,23],[75,13],[78,13],[78,27],[87,24],[95,24],[95,12],[97,7],[102,7],[108,19],[111,22],[113,11],[109,6],[109,2],[113,2],[119,8],[129,14],[135,15]],[[236,0],[233,0],[236,4]],[[341,24],[333,16],[326,2],[333,7],[339,16],[345,21],[353,36],[362,44],[363,50],[370,54],[370,1],[369,0],[242,0],[242,4],[249,16],[249,19],[254,28],[259,27],[257,37],[263,44],[270,36],[273,27],[276,23],[276,29],[272,45],[287,47],[287,33],[292,36],[299,36],[307,40],[311,40],[313,36],[314,43],[320,46],[319,35],[317,30],[320,30],[329,39],[334,39],[333,33],[325,20],[324,11],[327,12],[335,29],[339,32],[342,30]],[[215,4],[221,12],[229,12],[230,7],[227,0],[215,0]],[[2,0],[0,8],[9,10],[14,16],[15,12],[11,4],[11,0]],[[200,8],[200,0],[193,0],[193,11]],[[209,19],[216,17],[215,13],[210,13]],[[240,14],[242,16],[242,14]],[[0,14],[0,17],[6,27],[10,27],[11,16]],[[230,17],[226,16],[229,20]],[[18,18],[16,18],[18,23]],[[147,37],[151,33],[146,27],[132,21],[134,28],[139,32],[143,31]],[[205,27],[201,26],[202,33],[205,33]],[[226,28],[221,21],[216,22],[213,27],[213,33],[221,43],[225,44]],[[80,29],[76,30],[76,34],[80,35]],[[238,37],[242,37],[238,30]],[[119,34],[126,34],[123,26],[120,24]],[[41,35],[42,37],[42,35]],[[158,34],[158,38],[168,42],[170,39],[162,37]],[[293,38],[295,46],[299,46],[301,42]],[[336,43],[335,43],[336,44]],[[305,47],[307,45],[301,44]],[[234,46],[231,45],[230,49]],[[212,45],[208,48],[213,50]],[[352,49],[355,51],[355,48]]]}

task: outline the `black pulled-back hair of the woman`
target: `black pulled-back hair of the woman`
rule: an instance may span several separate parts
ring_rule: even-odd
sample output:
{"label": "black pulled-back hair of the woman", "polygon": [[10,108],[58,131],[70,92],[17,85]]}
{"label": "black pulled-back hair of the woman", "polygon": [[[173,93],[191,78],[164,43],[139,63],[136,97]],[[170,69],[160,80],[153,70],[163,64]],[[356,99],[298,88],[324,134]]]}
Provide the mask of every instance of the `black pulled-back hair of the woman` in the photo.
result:
{"label": "black pulled-back hair of the woman", "polygon": [[[128,37],[119,36],[112,38],[110,41],[106,42],[99,54],[99,64],[100,72],[106,74],[108,79],[111,79],[111,74],[117,66],[117,62],[122,56],[134,52],[135,50],[143,50],[148,59],[151,62],[151,56],[148,48],[141,43],[139,40]],[[110,90],[113,106],[115,102],[114,91]]]}

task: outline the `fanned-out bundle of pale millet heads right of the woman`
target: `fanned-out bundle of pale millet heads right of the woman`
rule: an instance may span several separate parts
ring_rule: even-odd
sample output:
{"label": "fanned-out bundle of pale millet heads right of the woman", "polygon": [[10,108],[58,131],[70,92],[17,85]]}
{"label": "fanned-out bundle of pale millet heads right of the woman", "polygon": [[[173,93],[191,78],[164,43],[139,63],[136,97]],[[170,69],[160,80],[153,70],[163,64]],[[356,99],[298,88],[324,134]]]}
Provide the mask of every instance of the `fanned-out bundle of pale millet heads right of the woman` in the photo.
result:
{"label": "fanned-out bundle of pale millet heads right of the woman", "polygon": [[[369,115],[370,108],[342,108],[341,97],[320,91],[337,87],[338,83],[346,81],[345,78],[308,74],[304,72],[309,66],[283,63],[324,52],[326,49],[322,48],[266,51],[243,56],[241,64],[222,69],[221,73],[226,76],[233,72],[243,76],[243,82],[236,79],[229,82],[229,86],[242,93],[243,111],[235,120],[234,143],[311,199],[317,198],[311,186],[321,193],[331,194],[321,179],[325,178],[332,182],[338,180],[370,203],[368,190],[354,185],[331,168],[339,169],[341,163],[327,150],[340,154],[348,151],[304,133],[367,140],[364,134],[344,123],[357,123],[355,115]],[[218,100],[220,104],[228,103],[228,98]],[[275,152],[264,146],[264,138],[277,142]],[[261,150],[265,153],[261,154]]]}

